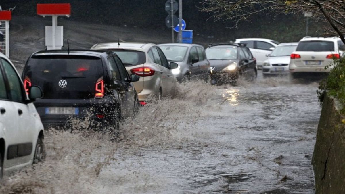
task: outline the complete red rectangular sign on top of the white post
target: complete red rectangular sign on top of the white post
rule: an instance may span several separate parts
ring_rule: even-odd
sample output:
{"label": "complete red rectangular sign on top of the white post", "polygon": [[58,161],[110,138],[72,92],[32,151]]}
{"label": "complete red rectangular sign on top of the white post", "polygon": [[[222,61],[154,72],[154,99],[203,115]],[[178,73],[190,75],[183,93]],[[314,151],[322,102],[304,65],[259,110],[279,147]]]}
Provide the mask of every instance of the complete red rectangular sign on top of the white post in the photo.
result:
{"label": "complete red rectangular sign on top of the white post", "polygon": [[70,15],[71,4],[69,3],[52,3],[37,4],[38,15]]}

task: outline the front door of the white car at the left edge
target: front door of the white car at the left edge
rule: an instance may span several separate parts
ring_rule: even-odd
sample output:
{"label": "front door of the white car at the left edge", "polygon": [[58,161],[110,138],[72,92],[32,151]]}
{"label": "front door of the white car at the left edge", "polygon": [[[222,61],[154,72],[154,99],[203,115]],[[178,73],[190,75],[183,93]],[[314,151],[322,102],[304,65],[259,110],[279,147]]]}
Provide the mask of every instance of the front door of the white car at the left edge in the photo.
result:
{"label": "front door of the white car at the left edge", "polygon": [[[7,162],[4,168],[28,163],[33,152],[33,142],[36,130],[34,128],[33,115],[26,104],[26,94],[17,71],[9,61],[1,59],[2,75],[7,83],[6,88],[10,102],[5,107],[11,124],[6,128]],[[2,104],[2,103],[1,103]],[[5,112],[5,114],[6,114]]]}

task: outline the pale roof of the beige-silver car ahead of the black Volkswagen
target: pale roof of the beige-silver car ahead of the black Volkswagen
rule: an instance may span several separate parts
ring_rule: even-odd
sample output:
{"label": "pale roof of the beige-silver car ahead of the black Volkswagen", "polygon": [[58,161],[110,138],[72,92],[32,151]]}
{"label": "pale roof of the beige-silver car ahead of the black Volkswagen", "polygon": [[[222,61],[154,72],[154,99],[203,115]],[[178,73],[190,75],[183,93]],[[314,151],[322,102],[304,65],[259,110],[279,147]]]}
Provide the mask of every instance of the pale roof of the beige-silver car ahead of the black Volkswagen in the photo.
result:
{"label": "pale roof of the beige-silver car ahead of the black Volkswagen", "polygon": [[130,50],[140,50],[147,51],[152,46],[155,46],[154,43],[144,43],[144,42],[103,42],[93,45],[91,50],[106,50],[106,49],[130,49]]}

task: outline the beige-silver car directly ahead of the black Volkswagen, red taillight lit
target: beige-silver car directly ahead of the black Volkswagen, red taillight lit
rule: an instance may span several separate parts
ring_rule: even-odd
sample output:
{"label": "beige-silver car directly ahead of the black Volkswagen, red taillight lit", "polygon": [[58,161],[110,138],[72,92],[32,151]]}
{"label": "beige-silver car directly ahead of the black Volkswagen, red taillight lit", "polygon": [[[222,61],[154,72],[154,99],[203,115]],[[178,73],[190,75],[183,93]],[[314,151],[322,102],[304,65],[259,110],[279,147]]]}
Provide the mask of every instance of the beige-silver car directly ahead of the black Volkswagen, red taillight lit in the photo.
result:
{"label": "beige-silver car directly ahead of the black Volkswagen, red taillight lit", "polygon": [[176,78],[170,69],[176,69],[175,62],[168,62],[161,49],[153,43],[108,42],[93,45],[91,50],[115,52],[129,74],[140,76],[134,83],[141,105],[147,103],[150,95],[161,97],[174,96]]}

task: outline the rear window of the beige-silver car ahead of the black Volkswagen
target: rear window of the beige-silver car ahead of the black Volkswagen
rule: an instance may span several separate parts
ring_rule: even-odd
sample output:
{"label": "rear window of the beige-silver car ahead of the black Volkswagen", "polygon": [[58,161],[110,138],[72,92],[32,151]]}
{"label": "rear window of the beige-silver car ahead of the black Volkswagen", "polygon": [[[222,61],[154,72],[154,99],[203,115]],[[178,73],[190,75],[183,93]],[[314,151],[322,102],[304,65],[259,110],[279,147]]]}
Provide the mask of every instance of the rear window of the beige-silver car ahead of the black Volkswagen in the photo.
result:
{"label": "rear window of the beige-silver car ahead of the black Volkswagen", "polygon": [[127,50],[114,52],[120,57],[125,66],[140,65],[146,62],[145,52]]}

